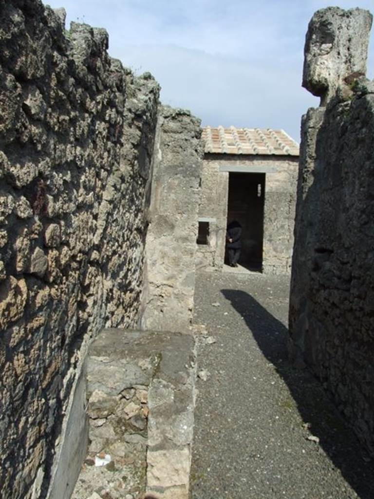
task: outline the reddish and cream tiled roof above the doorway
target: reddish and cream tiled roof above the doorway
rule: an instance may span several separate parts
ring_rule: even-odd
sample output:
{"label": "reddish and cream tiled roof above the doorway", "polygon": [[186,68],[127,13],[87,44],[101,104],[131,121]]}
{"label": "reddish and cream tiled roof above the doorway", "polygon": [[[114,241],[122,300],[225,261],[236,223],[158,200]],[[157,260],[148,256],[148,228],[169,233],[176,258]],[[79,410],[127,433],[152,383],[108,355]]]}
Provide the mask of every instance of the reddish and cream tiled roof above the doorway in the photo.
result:
{"label": "reddish and cream tiled roof above the doorway", "polygon": [[283,130],[207,126],[202,139],[206,153],[299,156],[298,144]]}

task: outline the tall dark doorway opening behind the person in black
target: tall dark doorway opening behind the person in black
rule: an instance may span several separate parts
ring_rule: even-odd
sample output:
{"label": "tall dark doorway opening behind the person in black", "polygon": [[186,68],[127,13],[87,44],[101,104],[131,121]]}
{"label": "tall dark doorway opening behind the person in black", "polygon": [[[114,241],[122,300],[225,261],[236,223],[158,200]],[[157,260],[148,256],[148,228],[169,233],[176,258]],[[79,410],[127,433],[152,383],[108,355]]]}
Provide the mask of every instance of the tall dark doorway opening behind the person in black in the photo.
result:
{"label": "tall dark doorway opening behind the person in black", "polygon": [[229,173],[227,223],[237,220],[242,226],[239,264],[260,272],[264,238],[264,200],[264,173]]}

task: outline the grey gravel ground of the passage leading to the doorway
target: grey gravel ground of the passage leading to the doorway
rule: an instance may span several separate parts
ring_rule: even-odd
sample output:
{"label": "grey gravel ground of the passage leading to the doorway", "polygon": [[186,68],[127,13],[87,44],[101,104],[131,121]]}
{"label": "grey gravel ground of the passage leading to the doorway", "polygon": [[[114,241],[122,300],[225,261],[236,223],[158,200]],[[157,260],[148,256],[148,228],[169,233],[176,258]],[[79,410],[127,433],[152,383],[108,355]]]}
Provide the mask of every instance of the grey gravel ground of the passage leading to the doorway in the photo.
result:
{"label": "grey gravel ground of the passage leading to the doorway", "polygon": [[[374,466],[307,369],[287,360],[289,278],[200,273],[192,499],[373,499]],[[217,305],[217,303],[219,305]]]}

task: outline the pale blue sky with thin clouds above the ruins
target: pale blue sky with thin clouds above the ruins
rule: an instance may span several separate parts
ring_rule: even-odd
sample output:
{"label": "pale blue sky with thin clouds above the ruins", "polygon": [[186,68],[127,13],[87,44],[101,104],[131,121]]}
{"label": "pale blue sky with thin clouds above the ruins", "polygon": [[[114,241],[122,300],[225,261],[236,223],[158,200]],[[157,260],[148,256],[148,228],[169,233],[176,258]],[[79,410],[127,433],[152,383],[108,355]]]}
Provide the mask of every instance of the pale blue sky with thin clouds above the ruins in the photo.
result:
{"label": "pale blue sky with thin clouds above the ruins", "polygon": [[[301,116],[319,99],[301,87],[305,33],[319,8],[374,0],[44,0],[70,21],[104,27],[109,54],[150,71],[161,100],[202,125],[283,129],[300,140]],[[374,28],[368,77],[374,77]]]}

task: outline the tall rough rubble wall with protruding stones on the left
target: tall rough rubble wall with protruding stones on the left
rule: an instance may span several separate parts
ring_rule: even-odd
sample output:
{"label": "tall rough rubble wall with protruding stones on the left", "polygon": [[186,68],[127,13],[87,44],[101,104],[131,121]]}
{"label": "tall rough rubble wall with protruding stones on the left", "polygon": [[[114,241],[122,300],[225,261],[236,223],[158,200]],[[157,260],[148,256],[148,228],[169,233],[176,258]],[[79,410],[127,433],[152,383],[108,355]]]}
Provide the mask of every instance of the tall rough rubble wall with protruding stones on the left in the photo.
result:
{"label": "tall rough rubble wall with protruding stones on the left", "polygon": [[86,343],[138,320],[159,86],[39,0],[0,19],[1,497],[43,498]]}

